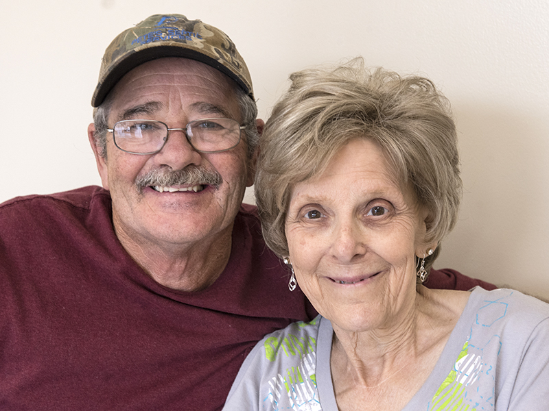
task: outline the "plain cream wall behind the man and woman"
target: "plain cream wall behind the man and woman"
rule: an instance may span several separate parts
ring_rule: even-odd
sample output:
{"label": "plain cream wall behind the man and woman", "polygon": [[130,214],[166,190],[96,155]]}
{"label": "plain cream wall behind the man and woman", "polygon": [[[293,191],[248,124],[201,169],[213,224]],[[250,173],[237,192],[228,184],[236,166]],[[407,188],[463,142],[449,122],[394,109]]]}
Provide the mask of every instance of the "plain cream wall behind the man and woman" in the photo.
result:
{"label": "plain cream wall behind the man and woman", "polygon": [[264,119],[307,66],[362,55],[430,77],[452,102],[465,188],[435,266],[549,298],[546,0],[1,0],[0,201],[100,184],[86,127],[104,49],[161,13],[229,34]]}

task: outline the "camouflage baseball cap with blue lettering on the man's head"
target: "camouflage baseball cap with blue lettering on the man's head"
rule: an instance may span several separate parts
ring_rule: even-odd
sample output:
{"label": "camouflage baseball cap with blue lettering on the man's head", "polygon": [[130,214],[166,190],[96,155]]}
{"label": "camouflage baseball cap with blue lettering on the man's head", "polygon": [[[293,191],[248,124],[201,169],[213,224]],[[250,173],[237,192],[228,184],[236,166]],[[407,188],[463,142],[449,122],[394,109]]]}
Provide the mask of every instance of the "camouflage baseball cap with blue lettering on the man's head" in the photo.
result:
{"label": "camouflage baseball cap with blue lettering on the man's head", "polygon": [[121,32],[107,47],[91,105],[100,105],[128,71],[163,57],[191,58],[208,64],[231,77],[253,99],[248,67],[229,36],[182,14],[154,14]]}

